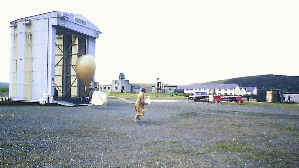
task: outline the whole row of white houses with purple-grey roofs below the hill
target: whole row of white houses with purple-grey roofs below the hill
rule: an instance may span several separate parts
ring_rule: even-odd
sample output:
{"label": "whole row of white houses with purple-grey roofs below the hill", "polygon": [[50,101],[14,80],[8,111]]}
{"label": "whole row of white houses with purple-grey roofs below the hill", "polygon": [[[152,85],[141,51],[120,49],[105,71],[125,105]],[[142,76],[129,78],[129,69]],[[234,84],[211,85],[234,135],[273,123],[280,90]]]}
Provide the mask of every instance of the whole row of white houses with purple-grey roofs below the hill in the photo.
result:
{"label": "whole row of white houses with purple-grey roofs below the hill", "polygon": [[177,90],[183,93],[196,91],[206,92],[208,95],[256,95],[257,88],[252,86],[239,87],[237,84],[202,84],[177,86]]}

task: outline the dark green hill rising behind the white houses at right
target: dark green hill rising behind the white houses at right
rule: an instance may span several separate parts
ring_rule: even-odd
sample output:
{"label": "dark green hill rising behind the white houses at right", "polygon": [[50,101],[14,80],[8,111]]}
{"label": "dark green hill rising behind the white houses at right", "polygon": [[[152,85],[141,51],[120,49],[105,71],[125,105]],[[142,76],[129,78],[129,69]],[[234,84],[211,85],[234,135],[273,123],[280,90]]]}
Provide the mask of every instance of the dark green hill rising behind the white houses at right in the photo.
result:
{"label": "dark green hill rising behind the white houses at right", "polygon": [[[259,75],[217,80],[203,84],[238,84],[239,86],[256,86],[265,89],[281,89],[283,92],[299,92],[299,76]],[[196,84],[190,84],[196,85]]]}

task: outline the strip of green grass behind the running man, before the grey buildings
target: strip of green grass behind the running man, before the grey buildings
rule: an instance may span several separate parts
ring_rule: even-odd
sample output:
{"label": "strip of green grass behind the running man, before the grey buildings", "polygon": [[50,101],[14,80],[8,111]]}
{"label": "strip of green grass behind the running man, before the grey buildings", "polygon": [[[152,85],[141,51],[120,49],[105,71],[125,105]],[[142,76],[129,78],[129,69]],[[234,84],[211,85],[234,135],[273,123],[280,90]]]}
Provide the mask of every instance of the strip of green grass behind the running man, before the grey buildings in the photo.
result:
{"label": "strip of green grass behind the running man, before the grey buildings", "polygon": [[[116,93],[116,92],[111,92],[109,96],[116,96],[116,97],[124,97],[124,98],[137,98],[138,93]],[[180,94],[179,94],[180,95]],[[184,96],[178,96],[175,94],[171,93],[146,93],[145,98],[147,96],[150,96],[151,98],[166,98],[166,99],[188,99],[187,97]]]}

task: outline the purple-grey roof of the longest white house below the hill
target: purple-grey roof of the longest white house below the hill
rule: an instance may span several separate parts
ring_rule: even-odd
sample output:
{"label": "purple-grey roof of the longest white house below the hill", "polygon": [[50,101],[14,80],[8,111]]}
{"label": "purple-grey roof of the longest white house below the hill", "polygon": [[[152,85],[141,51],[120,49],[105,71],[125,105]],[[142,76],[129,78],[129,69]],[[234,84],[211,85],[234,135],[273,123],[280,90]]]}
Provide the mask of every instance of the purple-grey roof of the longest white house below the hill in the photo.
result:
{"label": "purple-grey roof of the longest white house below the hill", "polygon": [[181,85],[178,89],[235,89],[237,84],[201,84],[201,85]]}

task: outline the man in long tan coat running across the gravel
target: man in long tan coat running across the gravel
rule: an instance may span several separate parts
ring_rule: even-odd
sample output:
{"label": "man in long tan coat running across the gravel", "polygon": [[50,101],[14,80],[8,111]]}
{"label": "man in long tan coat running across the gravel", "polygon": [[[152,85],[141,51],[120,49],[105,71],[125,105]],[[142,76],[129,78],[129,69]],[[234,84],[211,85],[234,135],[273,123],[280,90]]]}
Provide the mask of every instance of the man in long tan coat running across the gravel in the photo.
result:
{"label": "man in long tan coat running across the gravel", "polygon": [[134,122],[139,122],[140,120],[140,116],[143,115],[147,109],[144,109],[144,105],[147,105],[148,103],[146,103],[144,101],[144,94],[146,93],[146,88],[142,88],[141,92],[138,94],[137,96],[137,100],[135,103],[135,111],[137,111],[137,114],[134,118]]}

